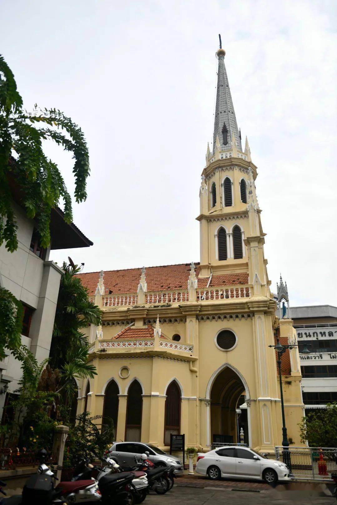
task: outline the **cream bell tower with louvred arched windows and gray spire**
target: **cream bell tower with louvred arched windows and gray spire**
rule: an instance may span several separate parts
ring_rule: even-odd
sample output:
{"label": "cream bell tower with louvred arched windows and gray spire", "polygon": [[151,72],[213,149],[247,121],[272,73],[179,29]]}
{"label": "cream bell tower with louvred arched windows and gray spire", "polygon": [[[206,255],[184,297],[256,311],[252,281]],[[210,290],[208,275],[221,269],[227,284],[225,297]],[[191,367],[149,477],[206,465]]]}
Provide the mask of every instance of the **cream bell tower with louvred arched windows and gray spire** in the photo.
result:
{"label": "cream bell tower with louvred arched windows and gray spire", "polygon": [[225,67],[218,49],[218,81],[212,150],[207,145],[200,186],[200,277],[247,272],[253,295],[270,297],[267,260],[255,180],[257,167],[237,127]]}

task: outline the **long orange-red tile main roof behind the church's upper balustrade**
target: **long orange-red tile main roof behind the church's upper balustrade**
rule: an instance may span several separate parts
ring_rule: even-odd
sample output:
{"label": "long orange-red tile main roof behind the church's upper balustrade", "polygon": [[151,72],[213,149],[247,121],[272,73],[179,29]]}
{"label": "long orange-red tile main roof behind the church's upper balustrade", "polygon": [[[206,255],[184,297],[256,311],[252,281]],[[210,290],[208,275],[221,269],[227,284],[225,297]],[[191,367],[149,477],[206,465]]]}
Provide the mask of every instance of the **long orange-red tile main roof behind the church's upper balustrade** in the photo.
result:
{"label": "long orange-red tile main roof behind the church's upper balustrade", "polygon": [[[196,276],[200,273],[200,264],[196,263]],[[148,291],[163,291],[166,289],[187,289],[187,281],[190,272],[190,263],[178,265],[163,265],[159,267],[147,267],[146,281]],[[128,268],[125,270],[108,270],[104,272],[105,292],[135,293],[137,292],[141,268]],[[88,288],[89,294],[94,294],[97,288],[100,272],[88,272],[78,274],[82,284]],[[207,286],[209,278],[198,279],[198,288]],[[223,286],[235,284],[248,284],[248,273],[236,273],[214,275],[210,286]]]}

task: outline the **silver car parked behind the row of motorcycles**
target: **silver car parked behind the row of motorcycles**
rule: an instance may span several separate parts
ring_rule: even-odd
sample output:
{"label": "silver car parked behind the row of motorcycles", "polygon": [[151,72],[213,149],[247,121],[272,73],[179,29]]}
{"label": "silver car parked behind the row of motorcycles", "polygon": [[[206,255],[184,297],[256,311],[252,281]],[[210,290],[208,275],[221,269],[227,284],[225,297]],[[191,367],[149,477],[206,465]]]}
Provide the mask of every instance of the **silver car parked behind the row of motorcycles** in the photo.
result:
{"label": "silver car parked behind the row of motorcycles", "polygon": [[167,454],[154,445],[141,442],[115,442],[109,449],[109,456],[113,458],[121,467],[127,465],[134,466],[134,457],[140,460],[142,454],[146,453],[150,461],[155,465],[172,466],[174,473],[182,474],[184,468],[182,462],[176,456]]}

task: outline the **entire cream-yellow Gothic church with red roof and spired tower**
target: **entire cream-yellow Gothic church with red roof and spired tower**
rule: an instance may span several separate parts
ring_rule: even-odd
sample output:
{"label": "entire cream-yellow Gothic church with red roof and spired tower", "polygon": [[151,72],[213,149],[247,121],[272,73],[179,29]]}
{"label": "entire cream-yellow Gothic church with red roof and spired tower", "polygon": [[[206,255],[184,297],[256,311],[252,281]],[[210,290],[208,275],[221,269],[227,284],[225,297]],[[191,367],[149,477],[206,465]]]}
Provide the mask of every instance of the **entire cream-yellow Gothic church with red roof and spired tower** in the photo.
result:
{"label": "entire cream-yellow Gothic church with red roof and spired tower", "polygon": [[[80,274],[103,311],[88,329],[94,379],[79,385],[78,413],[109,415],[117,441],[167,448],[245,441],[272,452],[282,440],[273,345],[296,339],[276,317],[265,233],[246,138],[242,148],[219,49],[213,150],[200,187],[200,263]],[[282,357],[288,437],[300,445],[304,415],[297,348]],[[243,428],[241,430],[241,428]]]}

